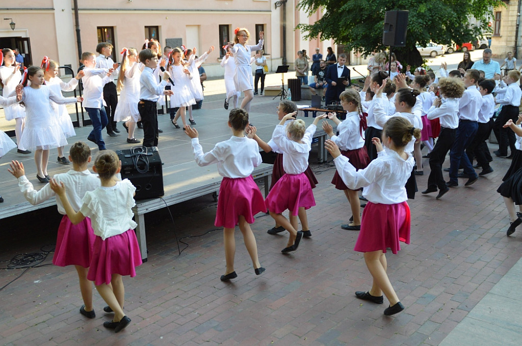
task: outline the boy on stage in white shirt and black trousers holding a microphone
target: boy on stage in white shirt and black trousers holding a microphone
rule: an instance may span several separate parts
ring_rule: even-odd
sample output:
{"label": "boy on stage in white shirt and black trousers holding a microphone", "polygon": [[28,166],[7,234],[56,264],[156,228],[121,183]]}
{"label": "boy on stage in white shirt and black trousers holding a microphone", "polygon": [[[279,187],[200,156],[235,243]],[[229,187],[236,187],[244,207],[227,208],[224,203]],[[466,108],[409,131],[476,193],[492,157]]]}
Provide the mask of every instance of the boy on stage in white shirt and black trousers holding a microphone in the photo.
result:
{"label": "boy on stage in white shirt and black trousers holding a microphone", "polygon": [[160,95],[173,95],[172,90],[164,90],[170,74],[163,71],[163,80],[158,84],[152,69],[158,66],[158,55],[149,48],[139,52],[139,61],[145,65],[139,78],[140,91],[138,111],[143,123],[143,145],[158,146],[158,113],[156,102]]}

